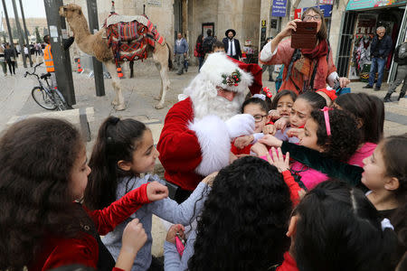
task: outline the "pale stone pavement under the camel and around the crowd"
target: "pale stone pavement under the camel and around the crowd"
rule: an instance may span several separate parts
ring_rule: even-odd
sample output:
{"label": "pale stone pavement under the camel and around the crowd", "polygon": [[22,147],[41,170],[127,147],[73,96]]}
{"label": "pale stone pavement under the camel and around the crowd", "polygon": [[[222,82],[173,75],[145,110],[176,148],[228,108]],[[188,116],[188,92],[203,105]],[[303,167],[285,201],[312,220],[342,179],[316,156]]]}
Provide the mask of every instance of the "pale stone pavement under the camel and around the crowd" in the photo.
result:
{"label": "pale stone pavement under the camel and around the crowd", "polygon": [[[145,61],[149,63],[150,61]],[[36,80],[24,79],[24,68],[20,65],[16,76],[4,77],[0,75],[0,131],[5,129],[7,121],[14,116],[25,116],[41,112],[46,112],[45,109],[39,107],[31,97],[31,89],[36,85]],[[30,70],[30,69],[29,69]],[[44,68],[39,69],[39,73],[45,72]],[[128,77],[128,70],[124,69],[125,75]],[[127,73],[126,73],[127,72]],[[116,117],[134,117],[137,120],[143,121],[150,127],[153,132],[155,143],[157,143],[161,128],[163,126],[166,113],[177,101],[177,95],[182,93],[183,89],[194,79],[197,74],[197,67],[190,67],[187,73],[182,76],[175,74],[175,71],[170,72],[171,80],[170,91],[166,96],[166,104],[163,109],[156,110],[153,106],[156,104],[155,96],[158,96],[161,84],[159,73],[154,65],[145,65],[137,62],[135,65],[135,79],[122,79],[123,95],[126,100],[127,109],[124,111],[116,111],[110,105],[114,97],[114,92],[111,87],[111,79],[105,79],[105,97],[96,97],[94,79],[89,79],[86,72],[82,74],[73,73],[74,89],[77,104],[73,107],[94,107],[94,121],[90,123],[90,131],[92,140],[87,143],[88,155],[91,152],[91,147],[98,133],[101,122],[109,115]],[[267,75],[264,78],[268,78]],[[265,87],[275,89],[272,82],[263,80]],[[353,82],[350,84],[352,92],[367,92],[383,98],[387,84],[383,83],[382,91],[374,91],[373,89],[362,89],[365,83]],[[398,97],[400,87],[397,93],[393,94],[393,99]],[[407,133],[407,98],[403,98],[401,102],[385,103],[385,122],[384,135],[400,135]],[[156,173],[162,174],[163,170],[157,160]],[[160,220],[154,218],[153,223],[153,253],[162,255],[162,244],[166,237],[166,229],[160,223]]]}

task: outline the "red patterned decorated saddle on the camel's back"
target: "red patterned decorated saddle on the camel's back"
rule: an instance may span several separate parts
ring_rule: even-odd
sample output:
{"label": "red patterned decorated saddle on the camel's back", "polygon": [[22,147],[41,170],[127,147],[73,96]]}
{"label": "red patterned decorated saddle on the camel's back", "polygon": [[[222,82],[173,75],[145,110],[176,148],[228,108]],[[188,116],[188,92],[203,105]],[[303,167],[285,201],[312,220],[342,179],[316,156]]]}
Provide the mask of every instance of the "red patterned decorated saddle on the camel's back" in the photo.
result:
{"label": "red patterned decorated saddle on the camel's back", "polygon": [[116,63],[147,59],[147,45],[166,42],[146,15],[110,14],[103,27]]}

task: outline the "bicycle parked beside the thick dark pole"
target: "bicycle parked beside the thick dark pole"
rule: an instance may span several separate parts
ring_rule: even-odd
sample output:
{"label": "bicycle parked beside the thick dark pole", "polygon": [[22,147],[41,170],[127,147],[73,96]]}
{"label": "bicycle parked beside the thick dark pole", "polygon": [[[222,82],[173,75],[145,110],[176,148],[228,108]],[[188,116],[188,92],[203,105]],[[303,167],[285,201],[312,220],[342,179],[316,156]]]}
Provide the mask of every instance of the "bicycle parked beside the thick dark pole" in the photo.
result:
{"label": "bicycle parked beside the thick dark pole", "polygon": [[[39,86],[33,87],[33,90],[31,90],[33,100],[40,107],[47,110],[66,110],[68,108],[68,104],[66,103],[65,98],[63,98],[62,93],[57,88],[52,89],[48,83],[48,79],[51,78],[51,73],[43,73],[41,76],[38,76],[38,74],[35,73],[37,67],[41,66],[42,64],[43,63],[39,63],[35,65],[33,72],[25,71],[24,73],[24,78],[26,78],[27,75],[35,76],[40,84]],[[45,80],[46,85],[43,84],[42,79]]]}

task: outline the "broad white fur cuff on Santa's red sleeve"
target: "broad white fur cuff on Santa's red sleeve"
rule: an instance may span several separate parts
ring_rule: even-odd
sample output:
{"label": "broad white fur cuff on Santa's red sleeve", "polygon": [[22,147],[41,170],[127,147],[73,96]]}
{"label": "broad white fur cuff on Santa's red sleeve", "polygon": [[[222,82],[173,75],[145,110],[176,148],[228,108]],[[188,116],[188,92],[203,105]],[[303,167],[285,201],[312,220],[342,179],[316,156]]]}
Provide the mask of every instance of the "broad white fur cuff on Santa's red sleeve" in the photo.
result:
{"label": "broad white fur cuff on Santa's red sleeve", "polygon": [[229,164],[231,142],[226,125],[221,118],[207,116],[189,125],[198,137],[202,162],[195,172],[203,176],[217,172]]}

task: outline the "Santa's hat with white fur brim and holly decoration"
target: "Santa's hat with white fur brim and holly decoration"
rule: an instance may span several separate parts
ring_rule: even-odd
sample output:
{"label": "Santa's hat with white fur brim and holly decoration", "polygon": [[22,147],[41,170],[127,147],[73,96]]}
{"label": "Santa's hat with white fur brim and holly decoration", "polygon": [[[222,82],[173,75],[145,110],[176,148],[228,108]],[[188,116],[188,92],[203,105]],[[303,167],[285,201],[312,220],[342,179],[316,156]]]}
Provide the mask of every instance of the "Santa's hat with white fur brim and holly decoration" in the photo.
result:
{"label": "Santa's hat with white fur brim and holly decoration", "polygon": [[253,84],[251,69],[255,70],[249,64],[232,61],[223,52],[214,52],[208,56],[199,73],[202,79],[211,81],[215,86],[237,93],[244,93]]}

